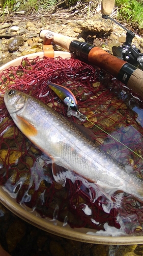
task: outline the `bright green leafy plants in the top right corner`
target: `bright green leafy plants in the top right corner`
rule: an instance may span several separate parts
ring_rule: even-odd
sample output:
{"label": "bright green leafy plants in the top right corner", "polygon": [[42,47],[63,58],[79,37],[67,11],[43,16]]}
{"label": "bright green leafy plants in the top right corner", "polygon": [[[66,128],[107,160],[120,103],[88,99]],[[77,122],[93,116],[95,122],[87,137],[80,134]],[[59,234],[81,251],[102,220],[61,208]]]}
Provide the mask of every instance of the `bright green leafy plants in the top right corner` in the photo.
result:
{"label": "bright green leafy plants in the top right corner", "polygon": [[143,28],[143,2],[136,0],[116,0],[118,17],[130,23],[138,24],[140,29]]}

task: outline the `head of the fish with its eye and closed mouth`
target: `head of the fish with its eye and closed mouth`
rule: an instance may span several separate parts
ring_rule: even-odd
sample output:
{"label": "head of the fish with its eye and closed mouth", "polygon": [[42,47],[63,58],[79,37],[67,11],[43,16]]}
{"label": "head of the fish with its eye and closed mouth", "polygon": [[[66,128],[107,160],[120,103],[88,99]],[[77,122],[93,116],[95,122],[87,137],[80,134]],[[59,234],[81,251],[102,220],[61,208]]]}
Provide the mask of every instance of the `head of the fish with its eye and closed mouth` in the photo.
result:
{"label": "head of the fish with its eye and closed mouth", "polygon": [[17,90],[7,90],[4,95],[4,102],[10,114],[21,110],[26,103],[26,94]]}

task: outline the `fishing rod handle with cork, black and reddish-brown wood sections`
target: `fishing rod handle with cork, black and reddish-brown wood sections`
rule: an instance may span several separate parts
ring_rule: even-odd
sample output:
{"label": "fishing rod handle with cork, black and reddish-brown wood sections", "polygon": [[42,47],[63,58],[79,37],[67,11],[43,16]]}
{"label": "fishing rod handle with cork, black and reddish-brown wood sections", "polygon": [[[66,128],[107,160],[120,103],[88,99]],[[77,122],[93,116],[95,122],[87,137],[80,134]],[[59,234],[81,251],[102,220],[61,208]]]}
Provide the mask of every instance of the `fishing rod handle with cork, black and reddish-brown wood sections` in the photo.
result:
{"label": "fishing rod handle with cork, black and reddish-brown wood sections", "polygon": [[59,45],[67,51],[75,53],[77,56],[104,69],[143,98],[143,71],[123,59],[117,58],[87,42],[80,42],[73,37],[64,36],[49,30],[41,30],[39,33],[40,38],[44,39],[47,33],[53,35],[53,43],[55,45]]}

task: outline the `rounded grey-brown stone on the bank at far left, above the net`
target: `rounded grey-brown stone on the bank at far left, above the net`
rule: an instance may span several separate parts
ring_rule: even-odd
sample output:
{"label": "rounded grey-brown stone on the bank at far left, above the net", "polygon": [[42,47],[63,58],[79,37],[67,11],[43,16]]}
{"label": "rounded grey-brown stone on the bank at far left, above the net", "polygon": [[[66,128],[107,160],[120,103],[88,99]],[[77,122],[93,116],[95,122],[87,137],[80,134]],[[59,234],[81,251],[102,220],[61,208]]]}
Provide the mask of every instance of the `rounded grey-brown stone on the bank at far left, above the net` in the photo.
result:
{"label": "rounded grey-brown stone on the bank at far left, above the net", "polygon": [[18,50],[19,46],[22,46],[24,40],[21,36],[12,37],[8,40],[8,50],[9,52],[15,52]]}

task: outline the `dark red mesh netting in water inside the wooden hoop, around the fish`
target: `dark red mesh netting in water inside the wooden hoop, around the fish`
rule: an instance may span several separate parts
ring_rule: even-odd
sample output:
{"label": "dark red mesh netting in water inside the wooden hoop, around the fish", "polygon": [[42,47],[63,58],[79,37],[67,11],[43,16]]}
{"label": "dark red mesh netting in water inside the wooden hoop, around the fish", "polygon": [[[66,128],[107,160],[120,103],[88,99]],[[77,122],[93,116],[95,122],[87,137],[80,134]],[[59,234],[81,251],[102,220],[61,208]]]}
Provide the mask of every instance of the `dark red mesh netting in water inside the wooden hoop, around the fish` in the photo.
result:
{"label": "dark red mesh netting in water inside the wooden hoop, around the fish", "polygon": [[[48,87],[48,81],[65,86],[76,96],[79,111],[92,122],[85,120],[82,125],[92,130],[95,145],[142,179],[143,162],[138,156],[143,156],[141,101],[97,67],[75,58],[37,57],[23,58],[18,67],[10,67],[0,76],[0,184],[18,203],[35,209],[42,218],[63,222],[63,226],[92,228],[99,234],[111,226],[124,234],[142,234],[142,202],[123,191],[108,189],[107,193],[74,173],[65,186],[56,183],[49,158],[12,121],[3,100],[11,88],[67,116],[67,106]],[[81,124],[74,116],[67,118]]]}

